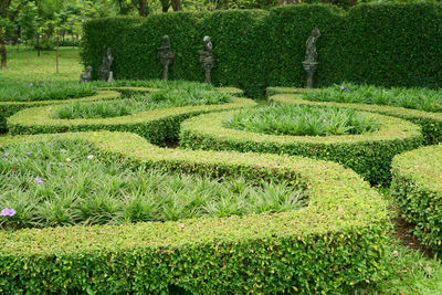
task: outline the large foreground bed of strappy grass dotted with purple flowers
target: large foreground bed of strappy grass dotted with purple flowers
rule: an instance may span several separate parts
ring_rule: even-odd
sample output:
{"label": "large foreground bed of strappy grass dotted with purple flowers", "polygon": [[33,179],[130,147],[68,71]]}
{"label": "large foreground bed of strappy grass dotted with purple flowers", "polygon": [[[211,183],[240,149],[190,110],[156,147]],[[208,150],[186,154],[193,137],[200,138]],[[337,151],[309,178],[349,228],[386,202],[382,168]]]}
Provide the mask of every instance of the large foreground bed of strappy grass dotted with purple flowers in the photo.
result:
{"label": "large foreground bed of strappy grass dotted with purple flowers", "polygon": [[81,141],[23,144],[1,150],[0,228],[122,224],[282,212],[302,208],[288,182],[251,183],[128,169]]}

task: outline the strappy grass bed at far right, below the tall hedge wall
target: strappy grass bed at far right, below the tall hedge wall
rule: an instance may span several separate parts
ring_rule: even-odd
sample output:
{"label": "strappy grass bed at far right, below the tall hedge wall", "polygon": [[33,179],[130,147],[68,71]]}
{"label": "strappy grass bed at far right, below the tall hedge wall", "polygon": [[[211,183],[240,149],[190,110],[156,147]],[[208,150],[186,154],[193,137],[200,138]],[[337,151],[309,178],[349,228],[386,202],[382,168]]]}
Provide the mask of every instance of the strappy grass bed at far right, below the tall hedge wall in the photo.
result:
{"label": "strappy grass bed at far right, below the tall hedge wall", "polygon": [[314,92],[304,92],[301,96],[316,102],[376,104],[425,112],[442,112],[441,93],[427,88],[382,88],[345,83]]}

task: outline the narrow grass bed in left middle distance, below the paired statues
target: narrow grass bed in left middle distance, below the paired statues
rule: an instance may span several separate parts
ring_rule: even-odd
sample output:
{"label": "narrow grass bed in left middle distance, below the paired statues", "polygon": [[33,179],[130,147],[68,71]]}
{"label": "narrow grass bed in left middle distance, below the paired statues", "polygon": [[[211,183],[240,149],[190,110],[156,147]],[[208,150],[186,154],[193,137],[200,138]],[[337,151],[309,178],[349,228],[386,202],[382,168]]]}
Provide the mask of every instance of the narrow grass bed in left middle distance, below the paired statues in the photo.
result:
{"label": "narrow grass bed in left middle distance, below the paired statues", "polygon": [[229,94],[207,91],[202,84],[177,85],[181,88],[169,88],[160,92],[135,95],[133,98],[112,102],[80,103],[74,102],[56,110],[55,118],[107,118],[137,114],[159,108],[180,107],[189,105],[224,104],[232,101]]}

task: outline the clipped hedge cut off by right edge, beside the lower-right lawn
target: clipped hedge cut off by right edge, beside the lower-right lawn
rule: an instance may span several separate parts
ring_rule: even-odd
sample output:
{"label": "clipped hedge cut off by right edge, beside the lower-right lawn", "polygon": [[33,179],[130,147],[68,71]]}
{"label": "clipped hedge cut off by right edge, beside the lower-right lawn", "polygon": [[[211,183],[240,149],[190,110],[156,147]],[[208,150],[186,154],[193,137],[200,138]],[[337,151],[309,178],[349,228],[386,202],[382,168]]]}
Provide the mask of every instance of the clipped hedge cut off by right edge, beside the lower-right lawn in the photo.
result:
{"label": "clipped hedge cut off by right edge, beside the lower-right lawn", "polygon": [[414,234],[442,253],[442,145],[394,157],[391,194]]}

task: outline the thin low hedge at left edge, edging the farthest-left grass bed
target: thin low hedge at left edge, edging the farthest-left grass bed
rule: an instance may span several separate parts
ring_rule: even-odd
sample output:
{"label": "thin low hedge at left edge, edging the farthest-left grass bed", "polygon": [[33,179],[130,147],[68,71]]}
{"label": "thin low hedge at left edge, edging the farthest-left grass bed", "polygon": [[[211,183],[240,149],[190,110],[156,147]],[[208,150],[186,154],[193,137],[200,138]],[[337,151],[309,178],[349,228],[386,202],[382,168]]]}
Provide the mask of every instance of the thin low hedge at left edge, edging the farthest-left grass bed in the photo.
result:
{"label": "thin low hedge at left edge, edging the farthest-left grass bed", "polygon": [[38,102],[0,102],[0,133],[7,131],[7,118],[13,114],[30,107],[59,105],[70,102],[92,102],[101,99],[113,99],[119,97],[119,93],[115,91],[99,91],[96,95],[83,98],[57,99],[57,101],[38,101]]}

